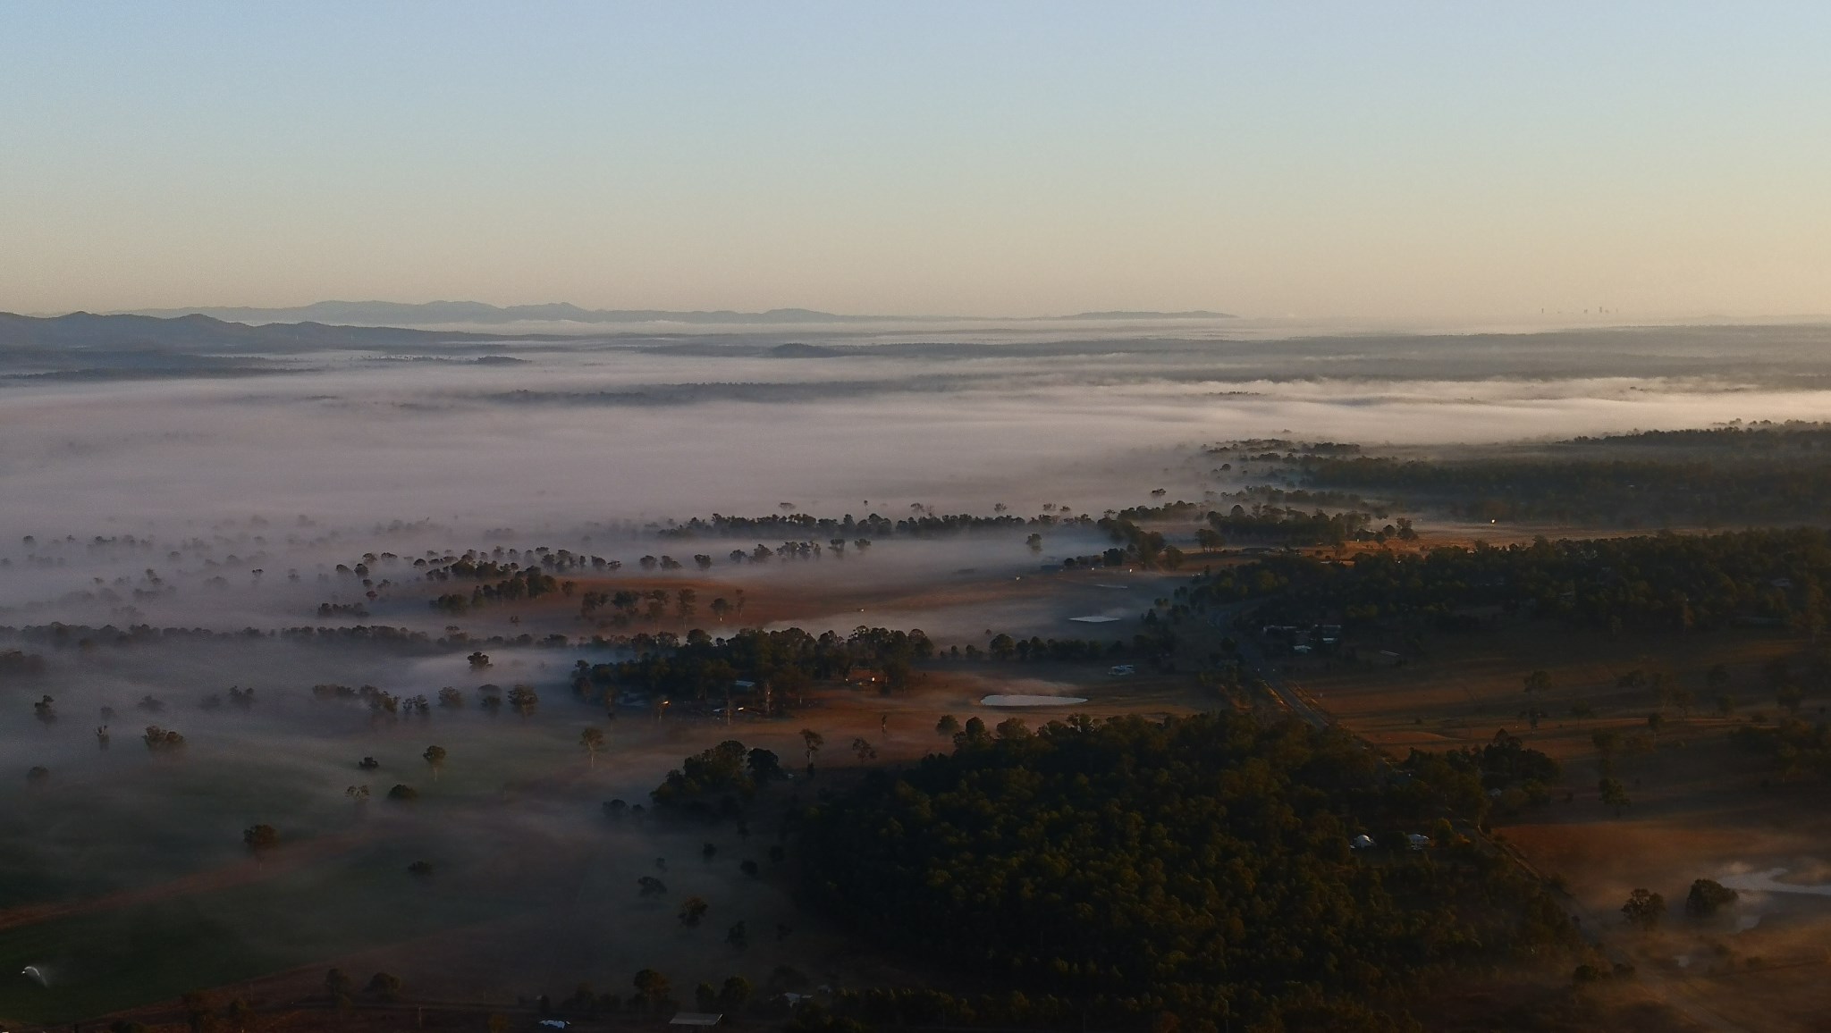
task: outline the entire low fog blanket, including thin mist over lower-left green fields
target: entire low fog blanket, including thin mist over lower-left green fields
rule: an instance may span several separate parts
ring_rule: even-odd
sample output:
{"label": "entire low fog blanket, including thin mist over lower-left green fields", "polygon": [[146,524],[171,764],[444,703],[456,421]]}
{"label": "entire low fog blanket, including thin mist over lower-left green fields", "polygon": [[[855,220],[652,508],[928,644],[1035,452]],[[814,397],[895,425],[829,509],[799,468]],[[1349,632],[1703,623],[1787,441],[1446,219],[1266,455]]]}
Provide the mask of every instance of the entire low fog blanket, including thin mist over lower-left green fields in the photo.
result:
{"label": "entire low fog blanket, including thin mist over lower-left green fields", "polygon": [[[1002,346],[829,337],[813,343],[824,352],[771,352],[784,343],[504,341],[425,355],[275,355],[287,372],[264,375],[92,375],[73,366],[68,377],[0,377],[0,626],[388,625],[432,639],[447,626],[573,639],[566,648],[491,647],[494,667],[476,672],[469,647],[454,645],[0,636],[0,652],[22,647],[48,659],[38,676],[0,670],[5,960],[44,963],[64,980],[57,985],[75,987],[145,971],[148,956],[178,965],[110,991],[114,1007],[192,989],[192,969],[244,978],[536,905],[547,908],[540,921],[573,923],[562,930],[564,956],[522,951],[491,927],[491,943],[469,956],[502,969],[472,985],[564,995],[590,976],[628,993],[634,969],[677,965],[676,991],[690,993],[688,978],[747,971],[762,980],[778,956],[811,963],[800,958],[842,954],[807,934],[787,941],[789,954],[712,956],[681,932],[672,908],[685,892],[712,899],[720,929],[742,918],[758,940],[778,921],[802,921],[785,897],[734,874],[731,852],[749,857],[765,841],[720,832],[727,854],[699,864],[698,844],[712,833],[610,828],[599,810],[613,795],[643,800],[681,755],[731,733],[710,722],[612,722],[568,687],[575,659],[608,659],[577,645],[595,630],[577,599],[531,608],[525,625],[516,606],[434,612],[427,599],[439,590],[412,566],[428,553],[504,549],[524,566],[536,546],[601,555],[623,562],[619,577],[701,584],[707,626],[714,593],[747,590],[756,604],[742,623],[813,632],[921,626],[943,647],[983,647],[994,630],[1128,637],[1135,628],[1124,621],[1069,621],[1135,617],[1168,595],[1165,582],[1110,573],[1064,577],[1044,592],[1025,581],[1038,564],[1104,548],[1089,529],[1047,529],[1035,548],[1027,529],[1000,529],[753,564],[729,551],[800,535],[681,540],[650,524],[787,511],[903,518],[914,507],[989,516],[998,504],[1020,516],[1097,516],[1148,504],[1159,487],[1190,500],[1236,487],[1196,449],[1216,440],[1501,441],[1831,410],[1824,328],[1800,326],[1307,341],[1051,343],[1031,333]],[[478,361],[493,355],[511,361]],[[388,551],[397,557],[381,555]],[[696,553],[714,557],[712,568],[696,570]],[[643,555],[672,555],[685,568],[650,575]],[[335,570],[359,562],[372,566],[374,588]],[[320,617],[320,604],[352,610]],[[315,698],[320,681],[401,698],[452,685],[465,707],[375,718],[359,701]],[[536,687],[538,712],[485,712],[482,681]],[[231,685],[253,685],[256,701],[240,707]],[[961,705],[998,690],[1084,690],[1049,681],[970,689]],[[49,712],[35,707],[40,696],[53,698]],[[161,707],[143,709],[148,696]],[[97,738],[103,707],[114,709],[108,749]],[[862,720],[877,729],[875,716]],[[148,723],[181,731],[185,756],[148,751]],[[934,744],[932,723],[928,716],[899,734]],[[608,734],[597,767],[580,751],[586,725]],[[798,727],[776,722],[742,734],[793,762]],[[857,734],[829,731],[829,751],[840,755]],[[449,749],[436,791],[419,810],[388,806],[381,795],[395,782],[434,786],[419,758],[430,742]],[[359,771],[364,755],[383,769]],[[48,778],[27,784],[29,766]],[[364,782],[377,799],[359,821],[344,789]],[[302,866],[276,875],[278,890],[245,872],[222,885],[183,881],[242,863],[240,830],[258,821],[280,826],[289,844],[319,844],[295,854]],[[311,850],[324,852],[322,864],[306,863],[319,857]],[[639,901],[635,877],[654,872],[661,854],[696,866],[670,868],[672,903]],[[441,888],[405,894],[405,864],[419,857],[441,864]],[[198,901],[172,919],[200,930],[194,941],[134,947],[143,927],[170,918],[159,908],[172,905],[134,896],[156,886]],[[273,892],[297,903],[276,910]],[[106,894],[126,897],[93,916],[31,912]],[[430,903],[414,903],[421,897]],[[573,918],[553,919],[553,908]],[[538,947],[555,929],[524,930],[516,943]],[[231,963],[211,954],[223,949],[245,956]],[[410,965],[412,956],[386,963]],[[0,985],[0,1006],[38,1007],[31,995],[40,989]],[[70,998],[42,1015],[84,1017],[99,1000]]]}

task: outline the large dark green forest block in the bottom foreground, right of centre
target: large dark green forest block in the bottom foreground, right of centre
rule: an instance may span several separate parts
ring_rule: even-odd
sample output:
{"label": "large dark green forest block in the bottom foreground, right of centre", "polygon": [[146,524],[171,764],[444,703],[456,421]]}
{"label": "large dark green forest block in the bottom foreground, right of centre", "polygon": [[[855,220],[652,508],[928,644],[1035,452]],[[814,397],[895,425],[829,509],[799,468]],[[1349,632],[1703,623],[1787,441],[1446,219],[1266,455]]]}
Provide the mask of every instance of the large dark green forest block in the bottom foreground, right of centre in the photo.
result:
{"label": "large dark green forest block in the bottom foreground, right of centre", "polygon": [[[1245,714],[972,720],[952,755],[822,799],[798,843],[809,896],[861,932],[1020,989],[1003,1022],[1399,1029],[1432,973],[1575,943],[1459,833],[1485,786],[1547,773],[1527,755],[1498,740],[1390,771],[1344,733]],[[1393,850],[1406,830],[1436,846]],[[905,1018],[972,1017],[921,1002]]]}

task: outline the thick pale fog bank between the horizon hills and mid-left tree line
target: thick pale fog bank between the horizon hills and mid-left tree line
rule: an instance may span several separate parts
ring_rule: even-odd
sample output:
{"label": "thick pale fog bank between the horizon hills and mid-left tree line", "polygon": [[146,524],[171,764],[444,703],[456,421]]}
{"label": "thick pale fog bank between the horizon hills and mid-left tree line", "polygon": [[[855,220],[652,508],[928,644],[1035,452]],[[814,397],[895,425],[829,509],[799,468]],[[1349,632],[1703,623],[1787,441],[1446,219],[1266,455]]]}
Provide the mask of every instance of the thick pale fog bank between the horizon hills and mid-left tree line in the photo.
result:
{"label": "thick pale fog bank between the horizon hills and mid-left tree line", "polygon": [[[363,553],[549,546],[634,570],[668,551],[655,527],[714,513],[1099,516],[1157,489],[1201,500],[1252,484],[1201,454],[1221,440],[1454,447],[1831,408],[1831,328],[1816,324],[385,332],[374,350],[320,328],[331,337],[249,353],[242,324],[115,319],[77,324],[88,346],[0,348],[0,623],[289,626],[326,603],[364,604],[331,573]],[[46,326],[62,324],[33,324]],[[1033,557],[1018,538],[901,542],[877,549],[870,577],[1020,573]],[[1044,559],[1102,540],[1053,535]],[[723,555],[756,544],[672,548],[710,551],[742,582],[764,575]],[[833,562],[767,575],[833,577],[850,575]],[[417,595],[366,604],[375,621],[441,625]],[[906,619],[983,630],[972,614]]]}

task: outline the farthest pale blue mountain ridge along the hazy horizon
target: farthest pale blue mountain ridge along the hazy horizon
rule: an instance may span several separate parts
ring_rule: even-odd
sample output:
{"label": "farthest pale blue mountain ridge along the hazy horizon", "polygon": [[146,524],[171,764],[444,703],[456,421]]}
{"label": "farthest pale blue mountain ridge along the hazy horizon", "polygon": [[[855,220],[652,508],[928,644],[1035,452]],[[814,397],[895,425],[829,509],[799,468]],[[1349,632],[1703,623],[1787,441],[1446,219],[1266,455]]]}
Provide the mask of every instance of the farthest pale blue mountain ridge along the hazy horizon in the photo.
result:
{"label": "farthest pale blue mountain ridge along the hazy horizon", "polygon": [[[507,324],[507,322],[685,322],[685,324],[806,324],[806,322],[934,322],[976,321],[970,315],[840,315],[811,308],[773,308],[767,311],[694,310],[674,311],[659,308],[579,308],[569,302],[494,306],[469,300],[438,302],[346,302],[324,300],[295,308],[159,308],[137,310],[126,315],[174,319],[207,315],[227,322],[324,322],[333,326],[441,326],[441,324]],[[1077,315],[1024,317],[1049,319],[1232,319],[1223,311],[1082,311]]]}

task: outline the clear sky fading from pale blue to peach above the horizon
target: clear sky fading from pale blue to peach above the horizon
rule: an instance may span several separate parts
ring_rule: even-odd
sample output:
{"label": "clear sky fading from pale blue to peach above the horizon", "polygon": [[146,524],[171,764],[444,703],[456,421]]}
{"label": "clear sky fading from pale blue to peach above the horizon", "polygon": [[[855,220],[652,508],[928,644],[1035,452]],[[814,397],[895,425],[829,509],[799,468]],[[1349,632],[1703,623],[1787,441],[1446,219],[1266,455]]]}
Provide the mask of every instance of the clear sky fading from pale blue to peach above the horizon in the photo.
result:
{"label": "clear sky fading from pale blue to peach above the horizon", "polygon": [[1824,4],[0,4],[0,310],[1831,311]]}

